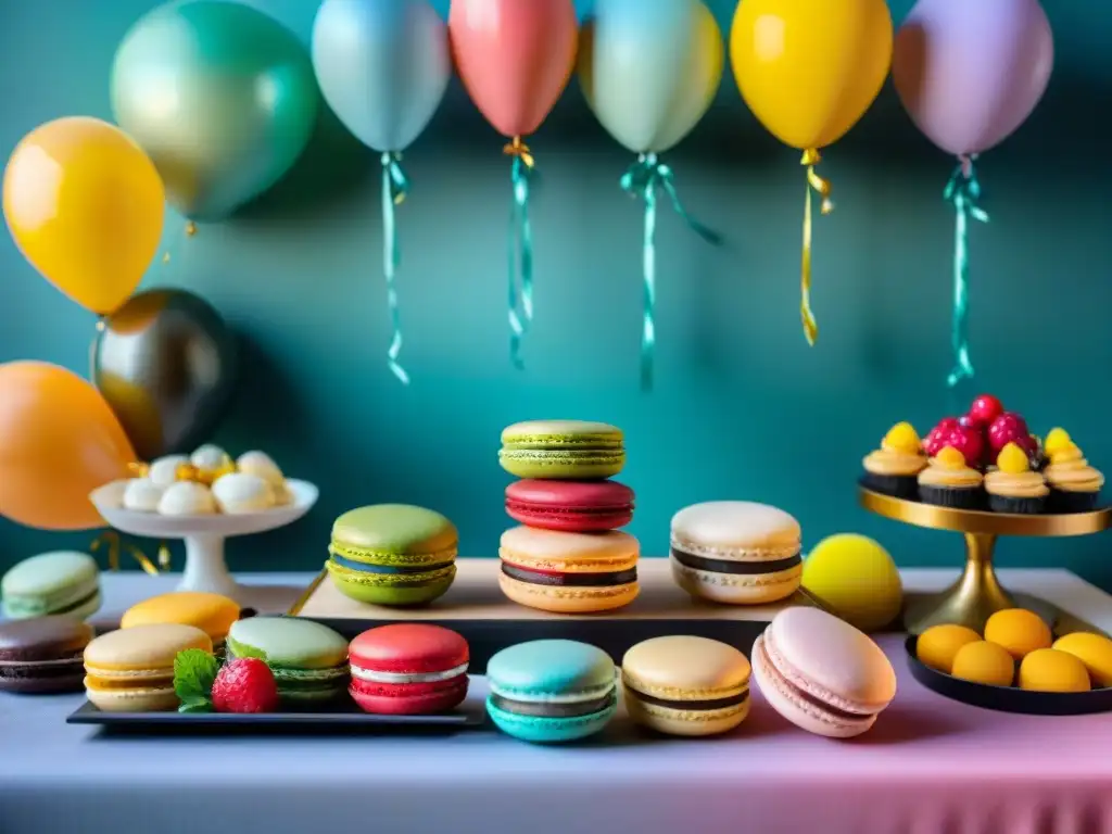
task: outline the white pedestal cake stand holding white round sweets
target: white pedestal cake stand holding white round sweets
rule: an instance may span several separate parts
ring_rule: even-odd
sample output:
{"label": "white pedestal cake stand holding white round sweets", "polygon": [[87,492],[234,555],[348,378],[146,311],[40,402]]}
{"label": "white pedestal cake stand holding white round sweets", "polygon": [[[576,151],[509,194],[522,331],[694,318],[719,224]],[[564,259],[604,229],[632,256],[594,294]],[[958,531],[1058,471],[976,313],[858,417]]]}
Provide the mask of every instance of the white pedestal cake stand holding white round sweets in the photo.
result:
{"label": "white pedestal cake stand holding white round sweets", "polygon": [[287,480],[286,486],[294,496],[290,504],[247,515],[160,516],[123,509],[115,484],[93,490],[89,498],[103,519],[120,533],[185,539],[186,567],[178,590],[208,590],[241,602],[240,586],[228,573],[224,559],[224,540],[285,527],[317,503],[319,490],[309,481]]}

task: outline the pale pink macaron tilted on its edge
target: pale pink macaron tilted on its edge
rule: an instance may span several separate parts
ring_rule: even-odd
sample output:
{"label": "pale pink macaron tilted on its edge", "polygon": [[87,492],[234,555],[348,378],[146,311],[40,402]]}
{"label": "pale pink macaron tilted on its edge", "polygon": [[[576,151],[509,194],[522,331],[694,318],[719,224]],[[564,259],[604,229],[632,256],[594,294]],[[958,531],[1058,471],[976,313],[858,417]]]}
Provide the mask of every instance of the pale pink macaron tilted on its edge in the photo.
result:
{"label": "pale pink macaron tilted on its edge", "polygon": [[861,735],[896,694],[881,647],[817,608],[785,608],[773,618],[753,644],[753,675],[773,709],[830,738]]}

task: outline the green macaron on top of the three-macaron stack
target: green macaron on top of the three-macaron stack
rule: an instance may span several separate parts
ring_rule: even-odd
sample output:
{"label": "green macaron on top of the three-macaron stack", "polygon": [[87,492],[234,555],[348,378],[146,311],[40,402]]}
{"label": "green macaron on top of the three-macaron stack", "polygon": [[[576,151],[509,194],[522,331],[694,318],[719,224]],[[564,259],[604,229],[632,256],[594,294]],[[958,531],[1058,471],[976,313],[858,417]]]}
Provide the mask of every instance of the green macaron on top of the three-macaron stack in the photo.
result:
{"label": "green macaron on top of the three-macaron stack", "polygon": [[498,461],[519,478],[609,478],[625,466],[625,444],[605,423],[528,420],[503,430]]}

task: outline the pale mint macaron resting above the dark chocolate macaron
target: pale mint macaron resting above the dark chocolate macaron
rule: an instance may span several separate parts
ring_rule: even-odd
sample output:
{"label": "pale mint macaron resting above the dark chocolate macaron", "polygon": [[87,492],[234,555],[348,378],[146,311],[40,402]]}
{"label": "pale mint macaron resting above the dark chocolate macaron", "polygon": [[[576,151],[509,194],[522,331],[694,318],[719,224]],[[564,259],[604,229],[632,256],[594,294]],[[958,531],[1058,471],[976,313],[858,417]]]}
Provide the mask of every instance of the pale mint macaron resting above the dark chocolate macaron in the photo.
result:
{"label": "pale mint macaron resting above the dark chocolate macaron", "polygon": [[100,610],[100,568],[87,553],[41,553],[3,575],[0,598],[10,619],[48,614],[86,619]]}

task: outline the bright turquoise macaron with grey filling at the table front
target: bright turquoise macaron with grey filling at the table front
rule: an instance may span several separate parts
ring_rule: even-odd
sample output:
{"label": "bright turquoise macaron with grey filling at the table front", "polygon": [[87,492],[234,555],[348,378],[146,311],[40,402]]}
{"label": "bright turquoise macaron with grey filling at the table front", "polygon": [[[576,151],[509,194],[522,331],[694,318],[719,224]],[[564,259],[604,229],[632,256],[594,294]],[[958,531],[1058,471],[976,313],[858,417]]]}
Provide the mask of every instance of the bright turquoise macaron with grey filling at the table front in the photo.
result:
{"label": "bright turquoise macaron with grey filling at the table front", "polygon": [[575,641],[533,641],[487,664],[490,719],[523,742],[555,744],[602,731],[617,711],[614,662]]}

